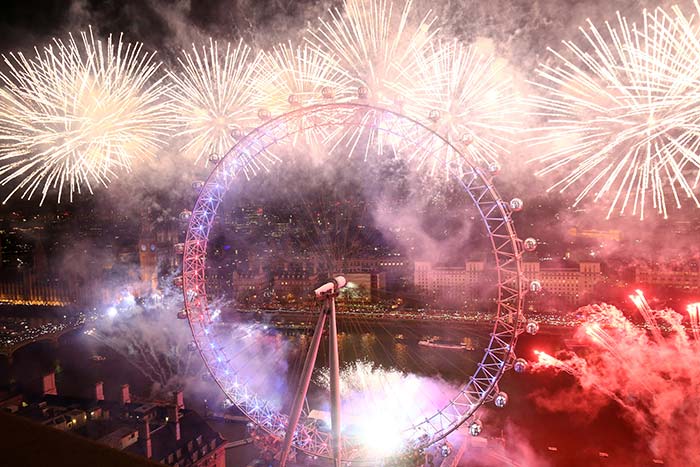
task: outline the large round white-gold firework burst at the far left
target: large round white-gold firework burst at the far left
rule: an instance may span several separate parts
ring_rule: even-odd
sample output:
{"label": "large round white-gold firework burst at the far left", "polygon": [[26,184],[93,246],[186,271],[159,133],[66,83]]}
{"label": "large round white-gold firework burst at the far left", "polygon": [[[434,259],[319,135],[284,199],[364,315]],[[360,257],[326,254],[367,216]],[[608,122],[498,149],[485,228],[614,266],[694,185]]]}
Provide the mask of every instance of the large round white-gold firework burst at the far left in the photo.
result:
{"label": "large round white-gold firework burst at the far left", "polygon": [[3,56],[0,72],[0,184],[43,203],[49,190],[92,192],[134,160],[152,157],[172,126],[156,78],[160,63],[141,44],[96,39],[54,39],[35,56]]}

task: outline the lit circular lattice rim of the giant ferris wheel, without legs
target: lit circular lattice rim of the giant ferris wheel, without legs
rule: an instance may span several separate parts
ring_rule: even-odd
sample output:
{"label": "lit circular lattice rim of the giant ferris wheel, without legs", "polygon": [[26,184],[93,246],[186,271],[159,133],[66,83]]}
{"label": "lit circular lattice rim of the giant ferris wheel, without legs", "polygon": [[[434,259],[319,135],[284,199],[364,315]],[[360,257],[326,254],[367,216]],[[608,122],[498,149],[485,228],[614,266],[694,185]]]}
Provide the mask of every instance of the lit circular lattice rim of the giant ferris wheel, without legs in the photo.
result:
{"label": "lit circular lattice rim of the giant ferris wheel, without legs", "polygon": [[[325,115],[324,115],[325,112]],[[263,153],[266,148],[279,143],[289,137],[292,131],[280,135],[272,132],[285,125],[286,122],[297,121],[297,126],[292,128],[294,132],[301,133],[320,126],[357,126],[367,127],[355,120],[339,120],[333,122],[313,123],[308,127],[303,124],[304,117],[314,114],[322,114],[326,117],[342,114],[352,117],[353,112],[366,112],[379,114],[382,118],[394,118],[408,122],[411,127],[422,131],[429,138],[438,141],[442,147],[450,148],[456,154],[464,158],[469,166],[468,175],[471,178],[460,178],[465,192],[474,202],[481,220],[490,239],[491,249],[494,254],[497,271],[497,307],[493,330],[489,339],[489,345],[484,351],[477,370],[465,382],[456,396],[450,402],[438,410],[435,414],[426,417],[424,421],[415,424],[411,428],[403,430],[412,431],[411,439],[415,447],[424,447],[434,444],[451,432],[455,431],[465,421],[473,418],[476,411],[487,401],[493,399],[498,392],[498,381],[504,371],[512,365],[514,360],[514,347],[518,335],[522,332],[522,300],[524,295],[524,279],[521,266],[521,241],[515,233],[512,223],[511,210],[505,203],[495,187],[491,183],[491,176],[481,168],[463,156],[462,152],[450,143],[446,138],[437,134],[422,123],[402,115],[394,110],[379,108],[362,103],[328,103],[301,107],[291,112],[279,115],[265,121],[244,137],[242,137],[222,158],[210,173],[201,187],[195,207],[189,219],[187,237],[183,254],[183,295],[188,323],[192,331],[194,343],[202,355],[207,370],[212,375],[222,392],[243,412],[251,421],[273,436],[283,437],[286,428],[284,414],[275,413],[267,402],[256,394],[248,391],[233,376],[226,355],[222,348],[217,348],[213,338],[209,338],[208,326],[211,326],[210,310],[206,295],[206,248],[213,219],[216,210],[222,201],[223,194],[228,191],[237,173],[236,168],[245,169],[241,165],[241,158],[248,164],[255,157]],[[343,116],[343,115],[341,115]],[[300,123],[301,122],[301,123]],[[388,131],[376,129],[377,131]],[[261,141],[267,138],[265,143]],[[238,157],[236,159],[236,156]],[[233,158],[233,160],[231,160]],[[228,175],[227,171],[232,174]],[[219,180],[223,177],[223,181]],[[222,186],[225,185],[225,186]],[[203,235],[206,232],[206,235]],[[505,316],[507,314],[507,316]],[[420,433],[423,432],[427,438]],[[328,436],[317,429],[309,429],[300,426],[295,435],[294,446],[308,454],[329,457]],[[352,447],[352,446],[350,446]],[[359,448],[357,448],[359,449]],[[344,448],[345,451],[348,451]],[[361,460],[353,459],[354,461]]]}

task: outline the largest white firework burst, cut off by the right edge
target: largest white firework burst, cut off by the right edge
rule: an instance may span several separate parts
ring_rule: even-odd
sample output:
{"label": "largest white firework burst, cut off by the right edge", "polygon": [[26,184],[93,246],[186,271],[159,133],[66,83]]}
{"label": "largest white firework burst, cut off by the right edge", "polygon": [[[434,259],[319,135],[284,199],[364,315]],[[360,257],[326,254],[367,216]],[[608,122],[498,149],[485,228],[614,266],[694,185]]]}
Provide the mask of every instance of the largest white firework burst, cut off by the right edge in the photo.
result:
{"label": "largest white firework burst, cut off by the right edge", "polygon": [[645,12],[639,27],[618,14],[603,32],[589,21],[581,44],[550,49],[553,64],[537,70],[545,95],[531,101],[546,123],[530,141],[551,149],[533,161],[559,178],[550,190],[579,187],[574,205],[592,195],[608,218],[631,207],[641,219],[649,197],[665,218],[682,197],[700,206],[700,36],[696,18],[674,12]]}

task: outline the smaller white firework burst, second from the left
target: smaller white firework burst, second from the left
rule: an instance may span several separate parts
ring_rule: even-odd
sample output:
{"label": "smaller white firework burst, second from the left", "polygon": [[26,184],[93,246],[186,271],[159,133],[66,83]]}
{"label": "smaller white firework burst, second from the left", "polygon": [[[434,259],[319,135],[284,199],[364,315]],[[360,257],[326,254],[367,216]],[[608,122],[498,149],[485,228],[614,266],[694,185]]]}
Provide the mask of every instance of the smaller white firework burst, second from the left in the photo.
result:
{"label": "smaller white firework burst, second from the left", "polygon": [[259,57],[242,41],[224,48],[210,39],[208,47],[182,51],[179,69],[168,71],[175,120],[189,139],[181,151],[195,161],[221,157],[260,124],[253,83]]}

